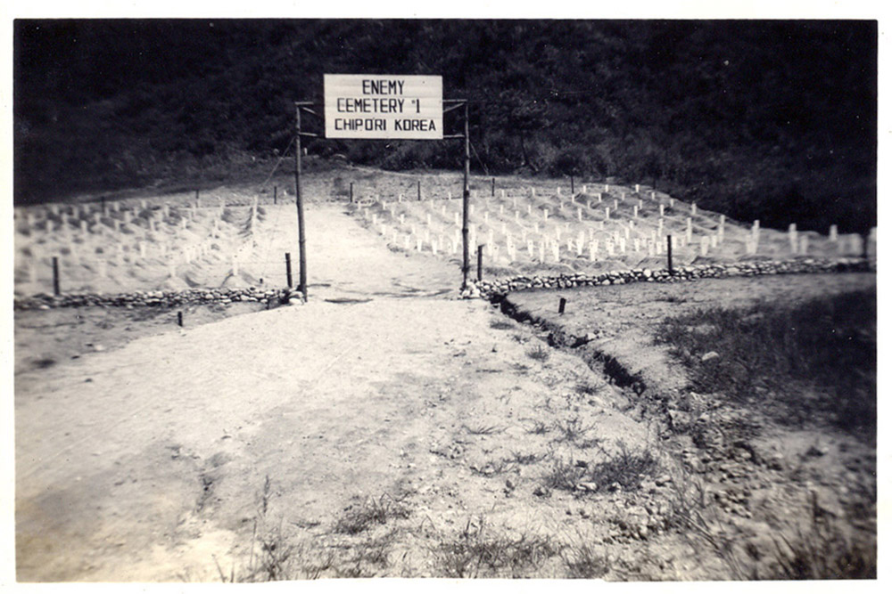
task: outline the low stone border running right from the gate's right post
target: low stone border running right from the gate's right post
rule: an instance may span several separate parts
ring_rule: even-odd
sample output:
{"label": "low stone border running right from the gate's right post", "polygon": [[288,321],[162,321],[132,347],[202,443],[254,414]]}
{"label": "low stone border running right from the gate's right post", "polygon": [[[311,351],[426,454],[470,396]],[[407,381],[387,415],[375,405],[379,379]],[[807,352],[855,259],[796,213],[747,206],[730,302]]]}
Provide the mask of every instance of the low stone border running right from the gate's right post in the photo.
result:
{"label": "low stone border running right from the gate's right post", "polygon": [[875,260],[864,260],[863,258],[804,258],[797,260],[754,260],[734,264],[679,266],[673,269],[673,273],[669,273],[668,269],[665,268],[660,270],[634,268],[626,271],[610,271],[599,274],[518,275],[492,281],[468,281],[468,288],[461,292],[461,297],[468,299],[480,297],[496,302],[510,292],[525,290],[622,285],[630,282],[696,281],[702,278],[760,276],[763,274],[876,273],[876,270],[877,263]]}

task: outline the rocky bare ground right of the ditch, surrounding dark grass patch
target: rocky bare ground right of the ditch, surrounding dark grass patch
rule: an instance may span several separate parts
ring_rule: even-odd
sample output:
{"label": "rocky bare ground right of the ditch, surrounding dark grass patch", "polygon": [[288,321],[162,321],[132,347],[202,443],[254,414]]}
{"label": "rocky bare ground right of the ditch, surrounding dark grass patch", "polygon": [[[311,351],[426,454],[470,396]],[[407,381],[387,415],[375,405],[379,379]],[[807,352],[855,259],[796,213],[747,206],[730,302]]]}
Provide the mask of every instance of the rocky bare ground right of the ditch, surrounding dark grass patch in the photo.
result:
{"label": "rocky bare ground right of the ditch, surrounding dark grass patch", "polygon": [[[662,419],[662,447],[698,477],[712,511],[719,512],[703,527],[722,529],[738,543],[768,545],[772,535],[814,524],[817,513],[833,518],[847,541],[873,549],[877,466],[871,435],[847,433],[818,418],[788,425],[767,404],[734,404],[721,394],[698,394],[668,346],[655,344],[666,317],[714,306],[796,305],[861,290],[876,290],[874,274],[524,292],[509,296],[505,308],[538,322],[550,343],[625,385],[630,414]],[[567,300],[563,314],[558,313],[561,297]],[[739,577],[758,561],[744,556]]]}

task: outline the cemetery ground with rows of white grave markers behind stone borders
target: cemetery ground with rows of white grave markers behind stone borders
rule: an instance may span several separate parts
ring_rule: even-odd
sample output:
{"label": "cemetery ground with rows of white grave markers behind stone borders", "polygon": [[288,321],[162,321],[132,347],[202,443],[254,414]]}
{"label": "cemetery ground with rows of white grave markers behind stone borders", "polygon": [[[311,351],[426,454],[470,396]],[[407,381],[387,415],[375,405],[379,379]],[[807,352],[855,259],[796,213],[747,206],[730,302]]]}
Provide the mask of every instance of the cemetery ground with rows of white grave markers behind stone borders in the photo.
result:
{"label": "cemetery ground with rows of white grave markers behind stone borders", "polygon": [[[460,271],[461,175],[342,167],[305,177],[308,204],[340,204],[388,248],[436,257]],[[765,229],[640,184],[580,181],[571,189],[566,180],[474,178],[470,203],[471,264],[479,248],[486,279],[660,269],[670,245],[674,266],[864,251],[860,236],[835,227]],[[284,287],[285,253],[297,271],[293,219],[293,182],[282,177],[257,186],[16,208],[16,296],[52,293],[54,258],[63,293]],[[310,236],[317,231],[308,228]],[[874,256],[875,242],[874,231],[867,246]]]}

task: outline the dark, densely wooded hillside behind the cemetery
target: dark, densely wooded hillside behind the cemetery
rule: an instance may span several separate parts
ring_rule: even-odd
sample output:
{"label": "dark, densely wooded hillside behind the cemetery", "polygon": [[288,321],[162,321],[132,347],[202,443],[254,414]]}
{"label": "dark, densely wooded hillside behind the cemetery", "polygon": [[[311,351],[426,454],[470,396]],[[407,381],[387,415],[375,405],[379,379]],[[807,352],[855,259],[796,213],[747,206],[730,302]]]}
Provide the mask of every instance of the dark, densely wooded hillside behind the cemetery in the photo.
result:
{"label": "dark, densely wooded hillside behind the cemetery", "polygon": [[[475,173],[657,183],[765,225],[875,224],[870,21],[18,20],[15,198],[244,179],[326,72],[441,74]],[[457,114],[447,126],[458,131]],[[311,142],[387,168],[456,142]]]}

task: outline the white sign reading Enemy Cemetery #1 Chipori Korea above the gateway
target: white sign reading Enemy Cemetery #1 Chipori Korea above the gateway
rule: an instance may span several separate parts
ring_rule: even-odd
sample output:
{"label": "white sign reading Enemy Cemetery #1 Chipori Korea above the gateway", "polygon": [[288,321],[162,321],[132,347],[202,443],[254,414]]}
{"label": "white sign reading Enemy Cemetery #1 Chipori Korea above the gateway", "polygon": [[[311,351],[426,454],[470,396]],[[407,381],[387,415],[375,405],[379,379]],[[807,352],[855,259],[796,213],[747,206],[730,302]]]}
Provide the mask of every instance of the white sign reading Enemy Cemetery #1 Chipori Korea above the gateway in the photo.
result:
{"label": "white sign reading Enemy Cemetery #1 Chipori Korea above the gateway", "polygon": [[440,140],[443,79],[326,74],[326,138]]}

